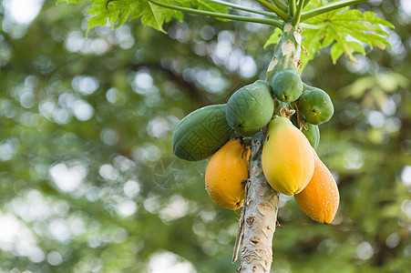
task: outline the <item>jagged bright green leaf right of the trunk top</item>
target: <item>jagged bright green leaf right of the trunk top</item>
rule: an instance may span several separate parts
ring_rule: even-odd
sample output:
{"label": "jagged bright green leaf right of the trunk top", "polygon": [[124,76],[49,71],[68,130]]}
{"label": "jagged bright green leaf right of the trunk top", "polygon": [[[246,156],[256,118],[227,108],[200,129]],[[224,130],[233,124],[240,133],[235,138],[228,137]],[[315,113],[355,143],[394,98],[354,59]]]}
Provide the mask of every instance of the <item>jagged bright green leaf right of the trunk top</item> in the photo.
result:
{"label": "jagged bright green leaf right of the trunk top", "polygon": [[[321,0],[314,0],[307,7],[317,7],[320,2]],[[303,46],[309,54],[302,56],[303,66],[313,59],[315,53],[328,45],[332,45],[330,54],[334,64],[342,55],[355,62],[354,54],[365,55],[365,46],[370,49],[374,46],[380,49],[391,46],[387,41],[389,35],[382,25],[394,28],[394,25],[376,17],[375,13],[362,13],[347,7],[315,16],[304,23],[313,28],[303,30]]]}

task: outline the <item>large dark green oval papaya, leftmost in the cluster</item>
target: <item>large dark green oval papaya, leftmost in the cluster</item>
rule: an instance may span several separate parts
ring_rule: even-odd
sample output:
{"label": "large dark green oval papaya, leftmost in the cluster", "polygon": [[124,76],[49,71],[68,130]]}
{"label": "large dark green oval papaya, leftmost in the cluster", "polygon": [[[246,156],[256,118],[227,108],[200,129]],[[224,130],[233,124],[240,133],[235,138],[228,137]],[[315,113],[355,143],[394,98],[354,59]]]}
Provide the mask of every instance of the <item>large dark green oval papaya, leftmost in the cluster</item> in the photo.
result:
{"label": "large dark green oval papaya, leftmost in the cluster", "polygon": [[172,136],[172,149],[181,159],[202,160],[214,154],[232,135],[226,105],[204,106],[180,120]]}

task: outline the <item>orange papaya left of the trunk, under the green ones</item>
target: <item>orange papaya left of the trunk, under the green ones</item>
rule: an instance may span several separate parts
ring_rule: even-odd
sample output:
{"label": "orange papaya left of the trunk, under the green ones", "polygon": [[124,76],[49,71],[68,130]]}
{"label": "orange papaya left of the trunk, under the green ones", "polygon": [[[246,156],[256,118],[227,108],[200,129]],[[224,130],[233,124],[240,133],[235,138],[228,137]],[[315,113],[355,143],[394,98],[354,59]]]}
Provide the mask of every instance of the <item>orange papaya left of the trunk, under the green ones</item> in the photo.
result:
{"label": "orange papaya left of the trunk, under the green ones", "polygon": [[250,148],[244,148],[239,139],[232,138],[210,159],[205,173],[205,185],[211,200],[228,209],[237,209],[244,203],[243,179],[248,178]]}

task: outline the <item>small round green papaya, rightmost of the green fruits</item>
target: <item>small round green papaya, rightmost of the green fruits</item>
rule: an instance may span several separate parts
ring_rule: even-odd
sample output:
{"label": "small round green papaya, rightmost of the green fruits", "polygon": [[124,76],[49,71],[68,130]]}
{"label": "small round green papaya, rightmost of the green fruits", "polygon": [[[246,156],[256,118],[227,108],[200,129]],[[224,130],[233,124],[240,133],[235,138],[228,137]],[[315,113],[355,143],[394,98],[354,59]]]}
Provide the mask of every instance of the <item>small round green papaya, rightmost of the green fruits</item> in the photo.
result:
{"label": "small round green papaya, rightmost of the green fruits", "polygon": [[300,96],[299,101],[305,120],[313,125],[327,122],[334,115],[330,96],[320,88],[309,86]]}

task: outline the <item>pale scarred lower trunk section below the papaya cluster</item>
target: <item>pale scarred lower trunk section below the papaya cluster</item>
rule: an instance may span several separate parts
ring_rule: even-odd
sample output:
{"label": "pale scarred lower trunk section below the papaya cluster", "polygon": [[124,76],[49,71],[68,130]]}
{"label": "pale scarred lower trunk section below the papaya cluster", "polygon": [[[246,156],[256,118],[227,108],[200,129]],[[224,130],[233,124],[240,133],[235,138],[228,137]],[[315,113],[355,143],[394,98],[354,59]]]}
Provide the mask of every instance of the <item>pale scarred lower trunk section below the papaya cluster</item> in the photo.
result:
{"label": "pale scarred lower trunk section below the papaya cluster", "polygon": [[272,237],[277,223],[278,194],[268,185],[262,173],[264,136],[256,134],[252,141],[250,186],[244,201],[244,237],[239,272],[270,272]]}

